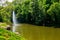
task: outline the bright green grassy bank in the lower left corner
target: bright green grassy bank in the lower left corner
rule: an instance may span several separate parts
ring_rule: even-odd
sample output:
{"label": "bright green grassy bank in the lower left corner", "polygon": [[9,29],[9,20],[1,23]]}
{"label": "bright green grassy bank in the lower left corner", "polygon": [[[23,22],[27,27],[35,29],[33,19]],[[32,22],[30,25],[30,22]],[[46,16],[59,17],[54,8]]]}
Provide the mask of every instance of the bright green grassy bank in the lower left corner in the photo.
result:
{"label": "bright green grassy bank in the lower left corner", "polygon": [[0,40],[21,40],[19,35],[0,28]]}

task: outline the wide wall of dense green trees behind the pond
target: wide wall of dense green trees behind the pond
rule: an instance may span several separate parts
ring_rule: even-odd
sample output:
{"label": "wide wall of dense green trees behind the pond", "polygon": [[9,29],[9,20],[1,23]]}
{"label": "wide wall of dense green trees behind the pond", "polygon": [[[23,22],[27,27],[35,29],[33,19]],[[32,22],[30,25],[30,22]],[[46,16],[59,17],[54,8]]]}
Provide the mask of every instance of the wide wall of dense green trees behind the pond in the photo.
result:
{"label": "wide wall of dense green trees behind the pond", "polygon": [[10,23],[14,10],[19,23],[45,26],[60,24],[60,0],[15,0],[0,9],[0,22]]}

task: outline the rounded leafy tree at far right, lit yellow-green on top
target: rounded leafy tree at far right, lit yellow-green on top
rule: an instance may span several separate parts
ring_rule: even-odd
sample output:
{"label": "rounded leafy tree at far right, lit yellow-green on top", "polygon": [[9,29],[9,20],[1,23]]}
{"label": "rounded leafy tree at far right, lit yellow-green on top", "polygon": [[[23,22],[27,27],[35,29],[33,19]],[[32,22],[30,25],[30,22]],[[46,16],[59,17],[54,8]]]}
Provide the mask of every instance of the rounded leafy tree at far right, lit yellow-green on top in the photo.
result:
{"label": "rounded leafy tree at far right, lit yellow-green on top", "polygon": [[53,3],[50,8],[47,10],[47,13],[51,17],[51,24],[59,25],[60,24],[60,3]]}

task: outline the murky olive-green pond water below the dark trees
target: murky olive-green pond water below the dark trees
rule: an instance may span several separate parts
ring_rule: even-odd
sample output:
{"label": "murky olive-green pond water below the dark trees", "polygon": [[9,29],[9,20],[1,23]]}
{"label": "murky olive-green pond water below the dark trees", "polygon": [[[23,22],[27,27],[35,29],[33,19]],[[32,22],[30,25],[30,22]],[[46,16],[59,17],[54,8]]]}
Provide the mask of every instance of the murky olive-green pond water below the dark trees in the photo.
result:
{"label": "murky olive-green pond water below the dark trees", "polygon": [[17,31],[26,40],[60,40],[60,28],[21,24]]}

